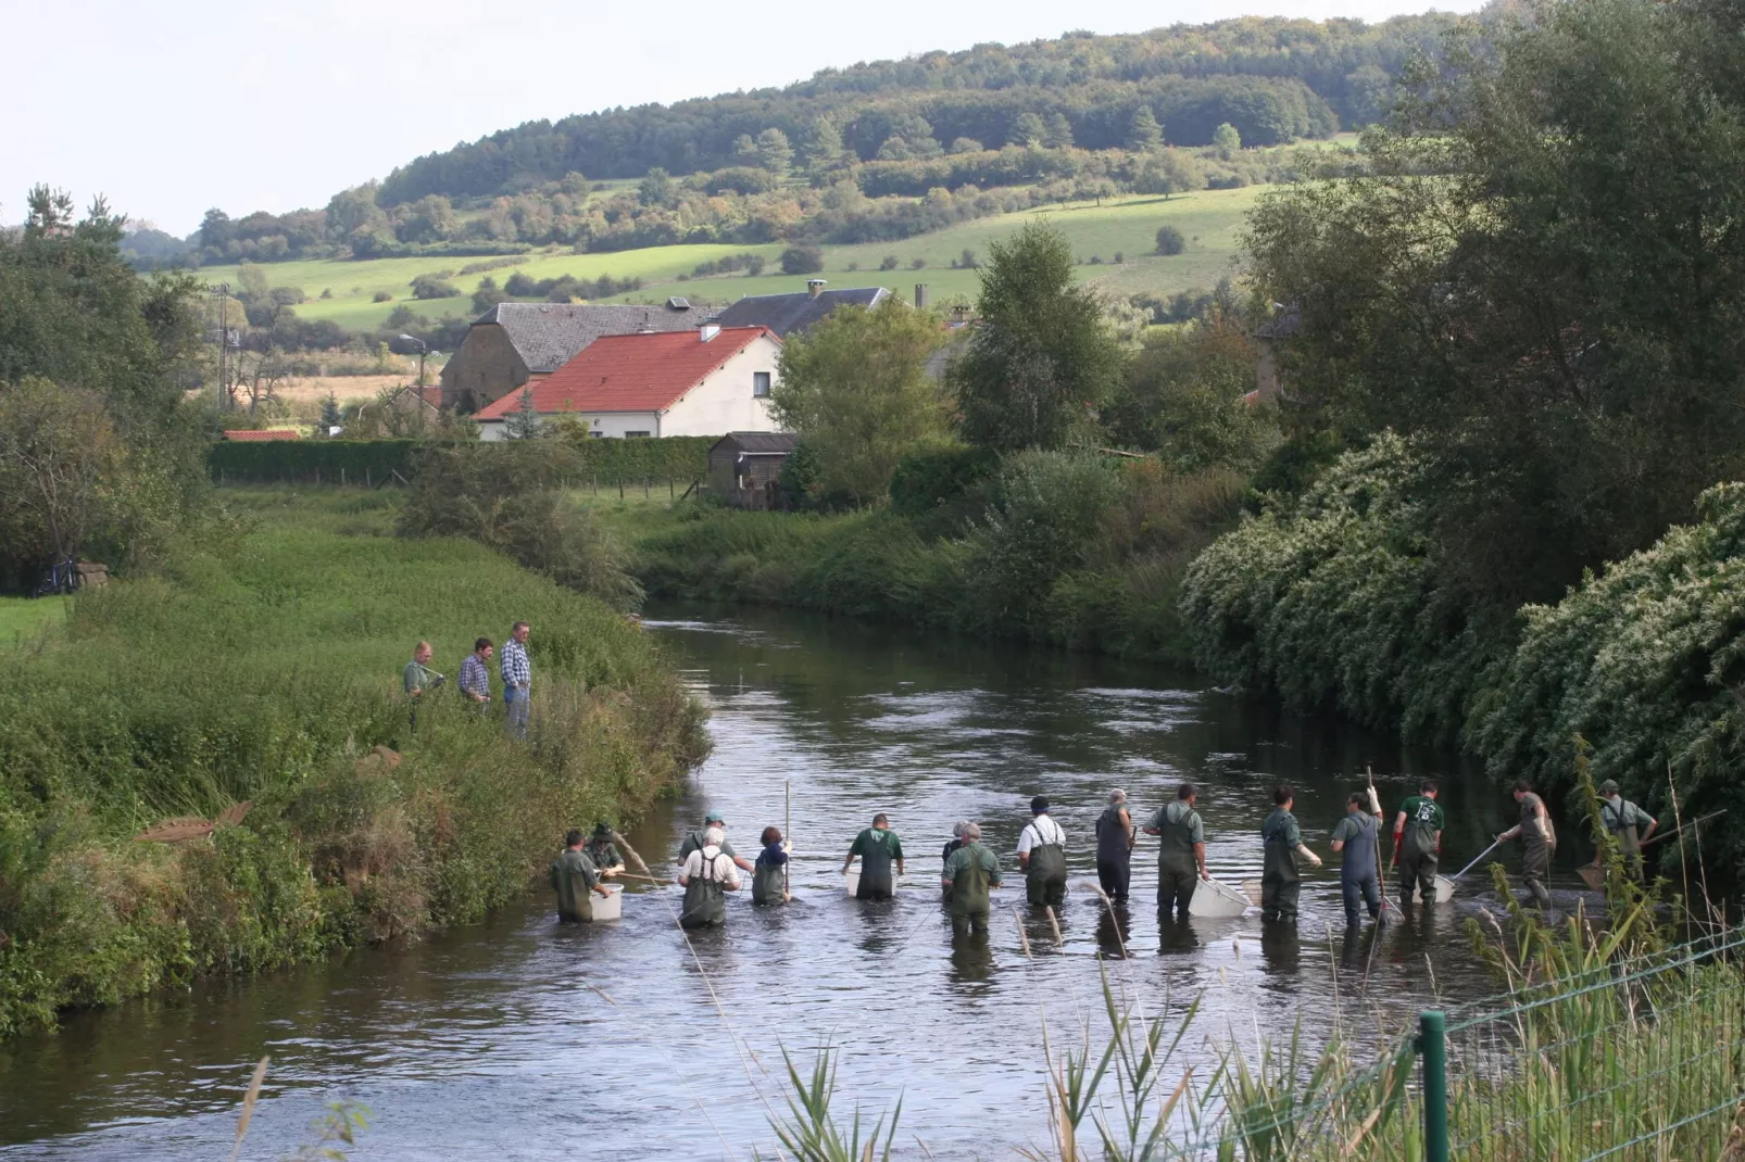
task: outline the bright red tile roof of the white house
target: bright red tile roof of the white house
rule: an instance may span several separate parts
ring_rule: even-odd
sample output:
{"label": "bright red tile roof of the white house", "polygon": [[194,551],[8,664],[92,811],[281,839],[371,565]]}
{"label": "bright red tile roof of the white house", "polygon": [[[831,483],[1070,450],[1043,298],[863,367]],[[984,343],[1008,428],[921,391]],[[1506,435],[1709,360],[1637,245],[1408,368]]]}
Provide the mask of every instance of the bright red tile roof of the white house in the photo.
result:
{"label": "bright red tile roof of the white house", "polygon": [[[759,335],[782,342],[768,326],[724,326],[707,344],[698,332],[604,335],[532,384],[534,412],[665,412]],[[511,391],[473,419],[520,408],[522,393]]]}

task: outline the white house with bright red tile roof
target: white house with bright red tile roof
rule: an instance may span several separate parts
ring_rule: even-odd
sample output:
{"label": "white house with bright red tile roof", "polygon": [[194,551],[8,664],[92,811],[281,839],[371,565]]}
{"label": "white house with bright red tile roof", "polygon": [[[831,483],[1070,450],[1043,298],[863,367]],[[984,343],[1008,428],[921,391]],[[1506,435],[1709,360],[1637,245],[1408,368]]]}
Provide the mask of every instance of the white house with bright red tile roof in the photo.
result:
{"label": "white house with bright red tile roof", "polygon": [[[778,431],[770,412],[782,340],[766,326],[606,335],[530,384],[536,415],[572,415],[595,436],[724,436]],[[482,440],[504,440],[510,393],[473,419]]]}

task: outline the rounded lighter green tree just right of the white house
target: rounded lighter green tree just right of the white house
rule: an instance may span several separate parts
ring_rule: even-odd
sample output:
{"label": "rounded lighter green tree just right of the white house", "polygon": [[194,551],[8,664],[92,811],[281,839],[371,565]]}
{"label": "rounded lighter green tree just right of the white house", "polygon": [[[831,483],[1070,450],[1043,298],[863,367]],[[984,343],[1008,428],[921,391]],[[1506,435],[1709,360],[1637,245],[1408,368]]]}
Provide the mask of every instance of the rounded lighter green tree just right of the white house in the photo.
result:
{"label": "rounded lighter green tree just right of the white house", "polygon": [[817,455],[824,496],[881,499],[904,450],[942,429],[927,375],[942,338],[934,314],[886,298],[871,311],[832,311],[782,347],[770,407]]}

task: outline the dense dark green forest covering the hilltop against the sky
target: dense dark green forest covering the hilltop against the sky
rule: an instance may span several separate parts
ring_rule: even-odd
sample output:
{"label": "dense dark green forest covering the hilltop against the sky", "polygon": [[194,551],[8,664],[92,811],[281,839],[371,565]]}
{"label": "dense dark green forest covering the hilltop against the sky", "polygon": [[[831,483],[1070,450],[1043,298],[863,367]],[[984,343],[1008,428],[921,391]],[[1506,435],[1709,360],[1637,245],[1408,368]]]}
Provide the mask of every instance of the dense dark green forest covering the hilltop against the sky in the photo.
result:
{"label": "dense dark green forest covering the hilltop against the sky", "polygon": [[571,173],[721,169],[747,164],[771,129],[813,167],[1000,145],[1120,148],[1141,106],[1169,145],[1206,145],[1223,122],[1246,145],[1277,145],[1373,120],[1399,65],[1434,51],[1455,19],[1242,17],[831,68],[785,89],[532,120],[394,169],[377,201],[511,194]]}

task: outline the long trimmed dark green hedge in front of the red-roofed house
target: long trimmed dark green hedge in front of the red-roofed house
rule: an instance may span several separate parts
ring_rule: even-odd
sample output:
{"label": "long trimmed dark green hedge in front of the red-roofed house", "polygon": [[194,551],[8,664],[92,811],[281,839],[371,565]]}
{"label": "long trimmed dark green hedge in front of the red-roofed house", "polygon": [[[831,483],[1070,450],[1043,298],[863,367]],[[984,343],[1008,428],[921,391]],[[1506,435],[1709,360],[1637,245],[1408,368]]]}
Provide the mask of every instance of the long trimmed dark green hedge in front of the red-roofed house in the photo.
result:
{"label": "long trimmed dark green hedge in front of the red-roofed house", "polygon": [[[708,473],[708,448],[715,440],[715,436],[667,436],[576,443],[571,445],[576,457],[574,483],[701,480]],[[206,462],[218,483],[380,485],[398,483],[394,473],[400,480],[412,480],[419,469],[417,450],[422,447],[433,445],[419,440],[218,441]]]}

